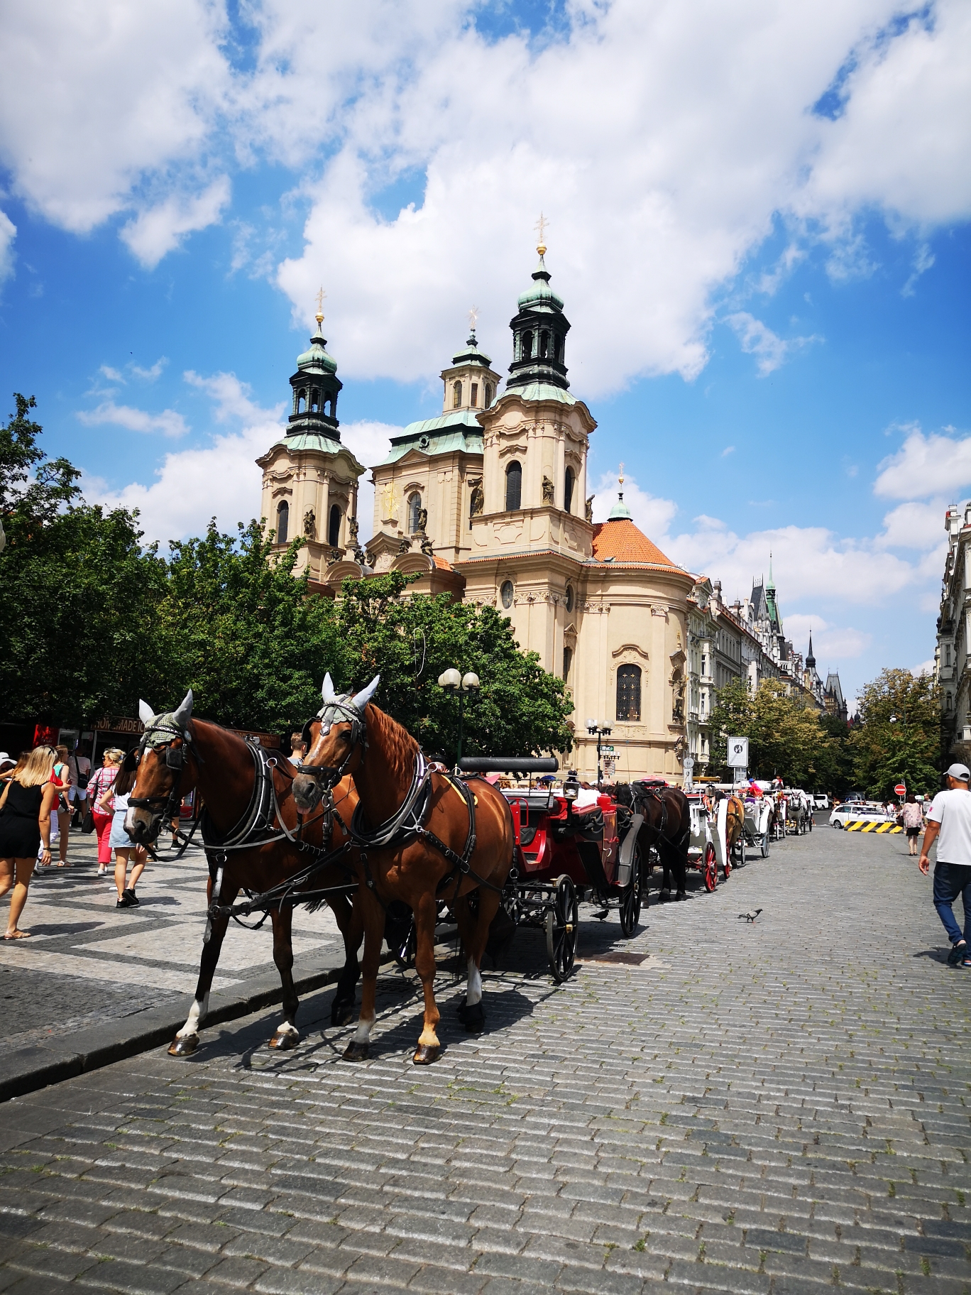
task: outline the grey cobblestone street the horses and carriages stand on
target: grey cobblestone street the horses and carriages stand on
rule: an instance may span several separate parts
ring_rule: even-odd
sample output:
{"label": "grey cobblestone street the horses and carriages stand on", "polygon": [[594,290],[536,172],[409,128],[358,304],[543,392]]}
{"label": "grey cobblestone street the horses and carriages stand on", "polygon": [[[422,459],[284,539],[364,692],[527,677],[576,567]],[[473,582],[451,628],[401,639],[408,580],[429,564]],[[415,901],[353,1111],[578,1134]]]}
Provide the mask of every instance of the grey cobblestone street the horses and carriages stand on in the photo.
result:
{"label": "grey cobblestone street the horses and carriages stand on", "polygon": [[364,1064],[321,993],[294,1053],[252,1017],[10,1102],[0,1290],[965,1295],[971,978],[930,892],[820,828],[651,906],[642,965],[590,961],[615,913],[562,987],[517,936],[479,1037],[441,974],[436,1066],[396,974]]}

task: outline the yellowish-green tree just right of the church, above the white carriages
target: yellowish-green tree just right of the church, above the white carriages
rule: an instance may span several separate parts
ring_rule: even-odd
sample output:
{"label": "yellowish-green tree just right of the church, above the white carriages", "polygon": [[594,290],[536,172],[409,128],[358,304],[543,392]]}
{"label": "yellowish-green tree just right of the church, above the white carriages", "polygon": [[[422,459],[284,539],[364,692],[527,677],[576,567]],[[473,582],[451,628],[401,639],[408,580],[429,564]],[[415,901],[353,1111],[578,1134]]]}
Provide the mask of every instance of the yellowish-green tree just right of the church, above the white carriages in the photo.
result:
{"label": "yellowish-green tree just right of the church, above the white carriages", "polygon": [[788,694],[783,680],[765,679],[755,693],[744,679],[733,679],[720,689],[711,712],[709,768],[725,777],[729,737],[748,738],[751,777],[825,786],[821,776],[835,739],[825,732],[816,710],[799,694]]}

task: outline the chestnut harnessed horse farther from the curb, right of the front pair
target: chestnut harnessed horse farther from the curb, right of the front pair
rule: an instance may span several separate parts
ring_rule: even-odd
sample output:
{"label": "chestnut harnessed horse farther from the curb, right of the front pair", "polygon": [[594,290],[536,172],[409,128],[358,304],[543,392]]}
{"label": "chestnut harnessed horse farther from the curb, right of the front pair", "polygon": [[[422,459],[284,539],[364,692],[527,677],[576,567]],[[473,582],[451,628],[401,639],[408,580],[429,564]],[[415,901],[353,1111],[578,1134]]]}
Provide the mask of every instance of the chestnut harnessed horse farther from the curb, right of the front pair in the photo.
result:
{"label": "chestnut harnessed horse farther from the curb, right of the front pair", "polygon": [[[356,697],[338,697],[326,676],[324,706],[307,725],[309,752],[294,778],[294,799],[312,812],[346,773],[360,796],[352,835],[361,847],[364,983],[357,1032],[344,1057],[364,1061],[368,1055],[385,918],[387,905],[397,900],[414,913],[425,1022],[413,1061],[427,1066],[440,1053],[434,992],[438,900],[448,901],[458,922],[469,967],[462,1019],[466,1030],[479,1031],[484,1020],[479,969],[513,862],[513,816],[488,782],[465,783],[431,771],[414,738],[370,702],[377,686],[378,677]],[[478,892],[475,912],[473,892]]]}

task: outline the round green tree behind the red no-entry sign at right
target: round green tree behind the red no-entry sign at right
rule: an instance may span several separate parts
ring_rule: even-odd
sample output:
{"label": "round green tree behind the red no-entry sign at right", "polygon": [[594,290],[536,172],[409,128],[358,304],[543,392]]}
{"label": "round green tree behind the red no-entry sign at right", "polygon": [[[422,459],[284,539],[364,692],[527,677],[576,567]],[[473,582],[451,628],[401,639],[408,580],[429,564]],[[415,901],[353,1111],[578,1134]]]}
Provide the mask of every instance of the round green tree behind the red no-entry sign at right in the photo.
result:
{"label": "round green tree behind the red no-entry sign at right", "polygon": [[897,782],[932,795],[940,789],[940,692],[930,675],[883,670],[857,698],[851,737],[860,790],[886,799]]}

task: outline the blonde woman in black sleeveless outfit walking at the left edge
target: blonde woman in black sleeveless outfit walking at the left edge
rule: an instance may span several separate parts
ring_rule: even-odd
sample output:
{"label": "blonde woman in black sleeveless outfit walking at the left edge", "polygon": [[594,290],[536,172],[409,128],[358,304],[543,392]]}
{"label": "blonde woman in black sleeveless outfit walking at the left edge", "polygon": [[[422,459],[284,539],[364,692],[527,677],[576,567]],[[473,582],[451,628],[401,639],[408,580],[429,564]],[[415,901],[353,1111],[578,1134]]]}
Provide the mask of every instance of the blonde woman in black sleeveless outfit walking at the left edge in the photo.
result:
{"label": "blonde woman in black sleeveless outfit walking at the left edge", "polygon": [[57,752],[49,746],[35,747],[0,796],[0,896],[13,887],[5,940],[23,940],[30,935],[17,923],[27,903],[41,839],[41,862],[50,862],[50,815],[57,813],[58,796],[50,781],[56,759]]}

